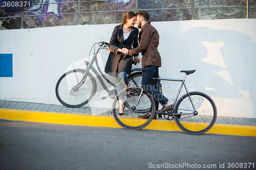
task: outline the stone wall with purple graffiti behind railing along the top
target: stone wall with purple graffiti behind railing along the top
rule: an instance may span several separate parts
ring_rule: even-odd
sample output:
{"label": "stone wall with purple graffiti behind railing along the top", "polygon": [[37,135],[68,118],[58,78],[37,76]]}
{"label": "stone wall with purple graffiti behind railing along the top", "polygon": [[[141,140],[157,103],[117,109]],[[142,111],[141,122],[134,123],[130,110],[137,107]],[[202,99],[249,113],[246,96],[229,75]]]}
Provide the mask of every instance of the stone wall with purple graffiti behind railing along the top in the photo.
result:
{"label": "stone wall with purple graffiti behind railing along the top", "polygon": [[[0,0],[0,30],[3,29],[3,27],[7,29],[20,28],[20,24],[22,22],[20,19],[21,8],[15,6],[20,5],[20,1],[21,0]],[[77,0],[23,1],[27,2],[26,5],[23,4],[25,10],[24,28],[78,25],[78,18],[80,18],[80,25],[120,23],[126,13],[122,10],[135,10],[134,0],[80,0],[81,15],[78,17]],[[197,0],[194,5],[195,7],[205,7],[195,8],[195,19],[229,19],[247,17],[247,0]],[[249,1],[249,18],[256,18],[255,5],[256,1]],[[147,9],[147,12],[151,16],[151,21],[190,20],[193,17],[192,9],[190,8],[191,0],[138,0],[136,6],[138,9]],[[217,8],[212,8],[212,6]],[[242,6],[245,8],[240,8]]]}

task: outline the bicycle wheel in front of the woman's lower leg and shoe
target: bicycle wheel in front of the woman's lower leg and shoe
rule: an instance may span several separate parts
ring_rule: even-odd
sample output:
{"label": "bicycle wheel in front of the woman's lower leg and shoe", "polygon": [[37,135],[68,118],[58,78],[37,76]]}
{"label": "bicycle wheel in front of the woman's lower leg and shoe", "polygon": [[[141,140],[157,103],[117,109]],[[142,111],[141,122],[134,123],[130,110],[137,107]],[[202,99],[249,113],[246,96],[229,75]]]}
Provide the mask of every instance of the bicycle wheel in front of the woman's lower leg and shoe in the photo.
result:
{"label": "bicycle wheel in front of the woman's lower leg and shoe", "polygon": [[[130,91],[130,94],[126,94]],[[126,106],[123,115],[119,115],[119,101],[123,100]],[[122,112],[122,111],[120,111]],[[151,112],[148,119],[138,118],[139,115],[145,115]],[[128,130],[139,130],[152,122],[155,114],[155,102],[147,91],[139,87],[129,87],[121,90],[115,97],[112,105],[112,113],[116,122]]]}

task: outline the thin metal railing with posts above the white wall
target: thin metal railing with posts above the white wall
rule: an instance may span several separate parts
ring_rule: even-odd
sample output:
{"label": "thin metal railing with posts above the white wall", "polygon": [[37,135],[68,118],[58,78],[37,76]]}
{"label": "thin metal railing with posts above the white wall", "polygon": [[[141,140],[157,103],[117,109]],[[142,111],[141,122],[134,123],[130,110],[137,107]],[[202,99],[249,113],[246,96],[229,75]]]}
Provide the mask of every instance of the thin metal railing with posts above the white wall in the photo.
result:
{"label": "thin metal railing with posts above the white wall", "polygon": [[[130,10],[114,10],[114,11],[88,11],[88,12],[81,12],[81,3],[95,3],[95,2],[113,2],[113,1],[118,1],[118,0],[96,0],[96,1],[75,1],[75,2],[59,2],[59,3],[39,3],[39,4],[35,4],[32,6],[38,6],[38,5],[52,5],[52,4],[70,4],[70,3],[77,3],[78,4],[78,10],[77,12],[71,12],[71,13],[57,13],[57,14],[35,14],[35,15],[26,15],[24,16],[24,6],[21,7],[21,11],[20,11],[20,16],[6,16],[6,17],[0,17],[0,19],[8,19],[8,18],[17,18],[20,17],[21,23],[20,23],[20,27],[21,29],[24,29],[24,17],[29,17],[29,16],[50,16],[50,15],[68,15],[68,14],[77,14],[78,15],[78,23],[77,25],[81,24],[81,14],[87,14],[87,13],[108,13],[108,12],[120,12],[120,11],[134,11],[135,13],[138,12],[138,10],[145,10],[145,11],[154,11],[154,10],[173,10],[173,9],[191,9],[191,19],[195,19],[195,9],[199,9],[199,8],[234,8],[234,7],[246,7],[246,18],[249,18],[249,7],[256,7],[256,6],[249,6],[249,0],[247,0],[247,6],[204,6],[204,7],[195,7],[195,1],[192,0],[191,1],[191,7],[181,7],[181,8],[154,8],[154,9],[139,9],[138,7],[138,0],[135,0],[135,8],[134,9],[130,9]],[[24,2],[24,0],[22,0],[22,2]],[[4,6],[0,6],[0,12],[4,11],[2,8],[4,8]]]}

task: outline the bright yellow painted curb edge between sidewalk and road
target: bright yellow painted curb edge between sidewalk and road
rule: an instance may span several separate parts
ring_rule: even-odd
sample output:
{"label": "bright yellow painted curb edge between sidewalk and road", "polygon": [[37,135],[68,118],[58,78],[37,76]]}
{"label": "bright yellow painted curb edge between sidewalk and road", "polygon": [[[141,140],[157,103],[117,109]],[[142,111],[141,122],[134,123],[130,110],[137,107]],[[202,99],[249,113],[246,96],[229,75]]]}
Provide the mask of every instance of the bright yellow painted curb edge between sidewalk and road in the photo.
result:
{"label": "bright yellow painted curb edge between sidewalk and road", "polygon": [[[91,116],[81,114],[0,109],[0,119],[51,124],[121,128],[112,116]],[[180,128],[176,125],[175,121],[170,120],[153,120],[151,124],[144,129],[181,131]],[[207,133],[256,136],[256,127],[215,124],[214,127],[212,127]]]}

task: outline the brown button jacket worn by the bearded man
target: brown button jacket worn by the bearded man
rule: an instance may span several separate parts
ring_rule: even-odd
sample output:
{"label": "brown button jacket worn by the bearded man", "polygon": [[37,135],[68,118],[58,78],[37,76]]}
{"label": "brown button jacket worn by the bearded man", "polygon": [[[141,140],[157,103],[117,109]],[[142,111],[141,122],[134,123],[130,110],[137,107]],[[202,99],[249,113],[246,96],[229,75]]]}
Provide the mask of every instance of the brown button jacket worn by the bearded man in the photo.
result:
{"label": "brown button jacket worn by the bearded man", "polygon": [[161,56],[157,50],[159,45],[159,34],[157,30],[151,25],[151,21],[145,23],[139,33],[139,46],[129,50],[129,55],[133,56],[141,52],[142,68],[147,65],[154,65],[161,67]]}

